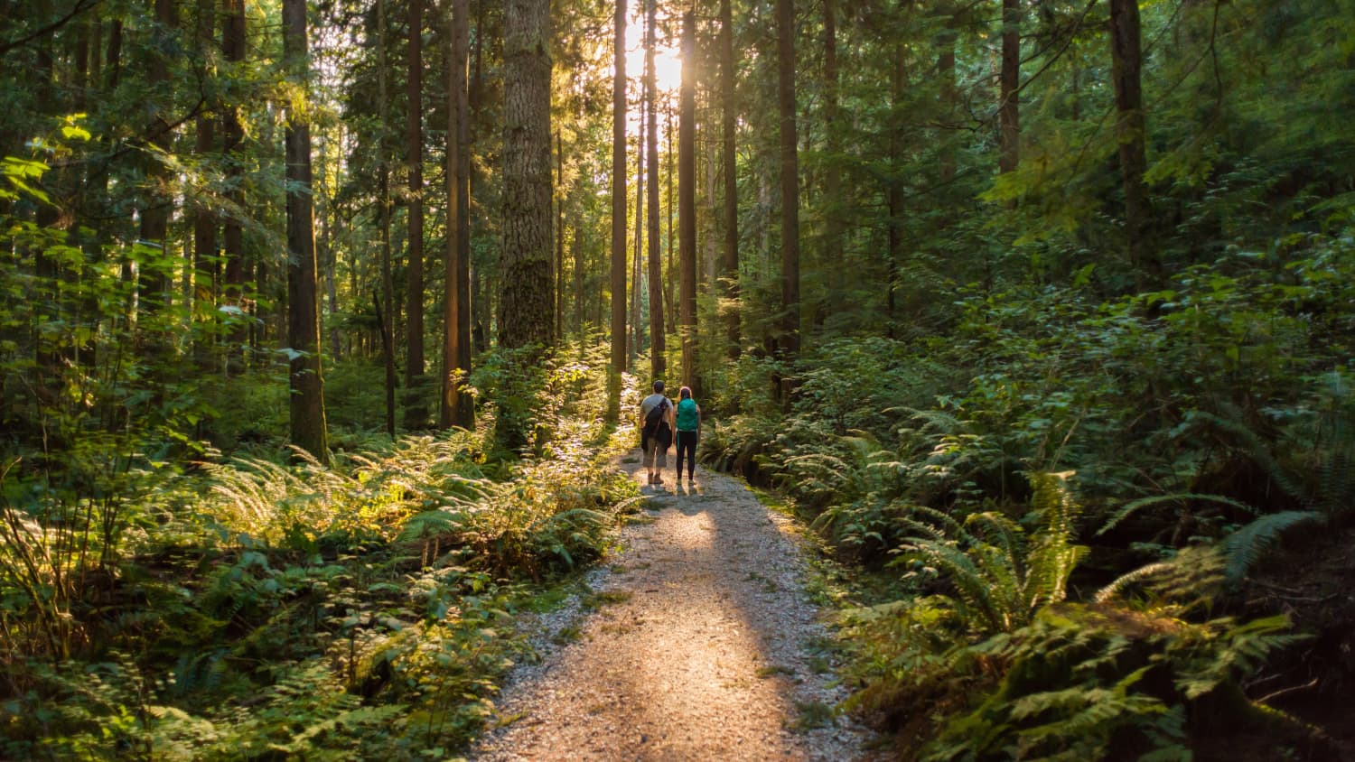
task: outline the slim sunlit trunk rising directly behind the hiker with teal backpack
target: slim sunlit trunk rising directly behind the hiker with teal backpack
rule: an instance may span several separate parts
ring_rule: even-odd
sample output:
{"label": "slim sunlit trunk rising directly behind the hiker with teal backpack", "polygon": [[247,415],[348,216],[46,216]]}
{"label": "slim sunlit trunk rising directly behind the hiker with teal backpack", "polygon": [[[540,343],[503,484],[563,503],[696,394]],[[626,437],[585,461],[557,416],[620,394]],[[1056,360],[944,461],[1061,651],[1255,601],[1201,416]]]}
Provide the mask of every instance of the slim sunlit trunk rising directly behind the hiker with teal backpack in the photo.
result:
{"label": "slim sunlit trunk rising directly behind the hiker with teal backpack", "polygon": [[[696,18],[682,19],[682,88],[678,108],[678,240],[680,241],[679,313],[682,314],[682,378],[696,386]],[[698,395],[699,397],[699,395]]]}

